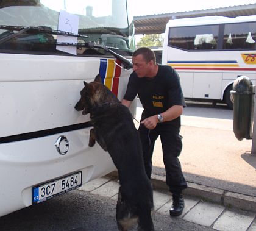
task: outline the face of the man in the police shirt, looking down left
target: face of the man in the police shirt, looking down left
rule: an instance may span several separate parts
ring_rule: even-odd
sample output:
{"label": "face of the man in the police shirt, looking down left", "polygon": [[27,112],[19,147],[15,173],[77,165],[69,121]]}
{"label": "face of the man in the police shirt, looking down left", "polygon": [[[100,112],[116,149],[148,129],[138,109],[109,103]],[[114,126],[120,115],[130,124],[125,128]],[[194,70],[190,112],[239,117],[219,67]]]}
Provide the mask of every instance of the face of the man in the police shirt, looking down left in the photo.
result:
{"label": "face of the man in the police shirt, looking down left", "polygon": [[139,78],[147,76],[149,71],[151,70],[151,62],[146,62],[143,59],[143,55],[139,54],[135,57],[132,57],[132,63],[133,63],[133,71],[137,74]]}

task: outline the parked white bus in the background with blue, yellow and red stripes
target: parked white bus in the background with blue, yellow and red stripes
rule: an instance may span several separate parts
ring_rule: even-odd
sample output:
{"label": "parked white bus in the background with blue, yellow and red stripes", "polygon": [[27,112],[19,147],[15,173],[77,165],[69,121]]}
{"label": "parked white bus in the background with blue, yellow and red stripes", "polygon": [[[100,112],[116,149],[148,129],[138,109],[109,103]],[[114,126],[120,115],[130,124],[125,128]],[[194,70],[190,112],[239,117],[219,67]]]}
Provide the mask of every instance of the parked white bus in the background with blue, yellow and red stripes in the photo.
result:
{"label": "parked white bus in the background with blue, yellow and red stripes", "polygon": [[224,101],[232,108],[234,80],[256,84],[256,16],[169,20],[163,64],[179,73],[185,98]]}

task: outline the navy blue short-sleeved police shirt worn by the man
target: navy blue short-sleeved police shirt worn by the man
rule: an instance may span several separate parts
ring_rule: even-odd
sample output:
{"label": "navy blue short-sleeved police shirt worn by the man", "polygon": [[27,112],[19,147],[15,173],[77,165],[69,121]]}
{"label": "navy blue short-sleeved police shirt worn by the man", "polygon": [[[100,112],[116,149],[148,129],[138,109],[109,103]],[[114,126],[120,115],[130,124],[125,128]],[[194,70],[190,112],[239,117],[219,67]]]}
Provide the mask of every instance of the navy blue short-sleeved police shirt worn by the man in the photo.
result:
{"label": "navy blue short-sleeved police shirt worn by the man", "polygon": [[171,66],[158,64],[157,75],[153,78],[139,78],[133,71],[124,99],[133,101],[137,94],[144,108],[142,119],[163,113],[173,105],[186,107],[179,75]]}

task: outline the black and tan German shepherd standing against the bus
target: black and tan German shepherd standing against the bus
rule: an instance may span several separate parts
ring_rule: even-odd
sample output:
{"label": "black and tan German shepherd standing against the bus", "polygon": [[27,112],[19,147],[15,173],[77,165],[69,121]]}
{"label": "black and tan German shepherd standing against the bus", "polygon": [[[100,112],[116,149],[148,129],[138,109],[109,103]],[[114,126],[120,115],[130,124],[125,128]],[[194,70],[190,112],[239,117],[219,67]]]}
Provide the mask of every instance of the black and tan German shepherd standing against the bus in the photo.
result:
{"label": "black and tan German shepherd standing against the bus", "polygon": [[108,151],[118,169],[119,193],[116,205],[118,230],[126,231],[138,222],[138,230],[152,231],[152,185],[144,169],[138,131],[129,109],[102,84],[98,74],[93,82],[84,82],[75,109],[90,113],[93,129],[89,146],[95,140]]}

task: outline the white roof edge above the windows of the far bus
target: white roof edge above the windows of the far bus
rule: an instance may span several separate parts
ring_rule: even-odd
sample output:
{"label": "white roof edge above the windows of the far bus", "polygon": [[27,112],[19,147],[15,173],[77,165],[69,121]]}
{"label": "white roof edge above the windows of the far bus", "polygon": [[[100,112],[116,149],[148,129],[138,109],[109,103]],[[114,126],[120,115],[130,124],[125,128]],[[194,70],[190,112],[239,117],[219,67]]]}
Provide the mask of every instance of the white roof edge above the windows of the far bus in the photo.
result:
{"label": "white roof edge above the windows of the far bus", "polygon": [[240,16],[236,18],[229,18],[224,16],[179,18],[179,19],[169,20],[169,22],[167,23],[167,27],[196,26],[196,25],[222,24],[222,23],[243,23],[247,21],[256,21],[256,15]]}

